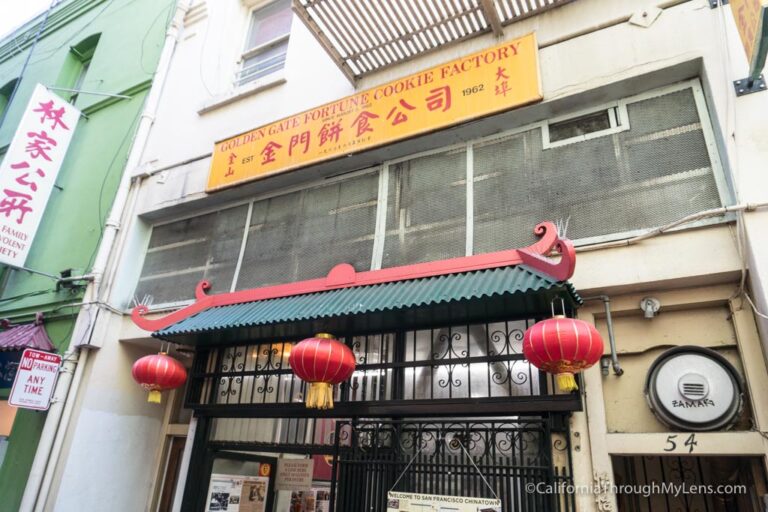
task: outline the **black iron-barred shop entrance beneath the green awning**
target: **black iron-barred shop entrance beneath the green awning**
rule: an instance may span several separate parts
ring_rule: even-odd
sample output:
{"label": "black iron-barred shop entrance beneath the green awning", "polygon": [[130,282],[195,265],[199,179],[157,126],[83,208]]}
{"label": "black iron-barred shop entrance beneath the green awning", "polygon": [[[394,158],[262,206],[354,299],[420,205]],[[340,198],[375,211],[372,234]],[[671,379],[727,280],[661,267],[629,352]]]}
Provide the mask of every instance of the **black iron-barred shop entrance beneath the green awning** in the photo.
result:
{"label": "black iron-barred shop entrance beneath the green awning", "polygon": [[[295,492],[270,477],[279,490],[264,512],[385,512],[389,491],[499,499],[503,512],[574,510],[572,497],[529,487],[570,482],[568,416],[581,409],[579,395],[557,393],[553,377],[525,360],[533,323],[342,336],[357,368],[332,410],[304,406],[306,384],[289,365],[299,337],[198,347],[185,510],[210,510],[212,479],[226,474],[200,470],[201,453],[212,452],[271,457],[275,467],[313,461],[311,483]],[[260,467],[235,475],[255,478]]]}

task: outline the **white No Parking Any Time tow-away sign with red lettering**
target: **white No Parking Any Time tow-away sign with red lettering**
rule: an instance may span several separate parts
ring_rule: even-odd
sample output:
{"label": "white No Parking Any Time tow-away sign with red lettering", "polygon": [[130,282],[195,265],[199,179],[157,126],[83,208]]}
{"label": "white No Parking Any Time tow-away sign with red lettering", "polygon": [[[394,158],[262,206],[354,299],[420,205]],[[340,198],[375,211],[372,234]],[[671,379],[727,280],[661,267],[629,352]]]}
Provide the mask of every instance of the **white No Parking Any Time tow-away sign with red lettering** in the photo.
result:
{"label": "white No Parking Any Time tow-away sign with red lettering", "polygon": [[59,377],[61,356],[28,348],[21,355],[8,405],[48,410]]}

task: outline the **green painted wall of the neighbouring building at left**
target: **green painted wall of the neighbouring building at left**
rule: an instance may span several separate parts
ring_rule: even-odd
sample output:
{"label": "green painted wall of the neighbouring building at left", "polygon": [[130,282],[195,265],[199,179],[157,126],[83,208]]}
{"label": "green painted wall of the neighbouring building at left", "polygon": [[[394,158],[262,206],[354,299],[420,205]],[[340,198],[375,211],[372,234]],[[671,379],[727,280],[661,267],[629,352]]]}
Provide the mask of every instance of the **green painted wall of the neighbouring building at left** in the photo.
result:
{"label": "green painted wall of the neighbouring building at left", "polygon": [[[0,158],[35,85],[72,87],[88,59],[82,90],[132,98],[77,95],[75,105],[88,117],[78,124],[27,268],[48,274],[70,268],[76,274],[89,272],[175,4],[175,0],[68,0],[51,13],[16,97],[6,107],[8,115],[0,127]],[[41,20],[0,41],[0,87],[20,76]],[[92,55],[83,53],[97,34]],[[83,41],[85,45],[80,44]],[[71,98],[67,92],[57,94]],[[0,278],[0,318],[20,323],[42,311],[48,319],[48,335],[64,352],[78,311],[70,305],[80,301],[82,289],[57,291],[52,279],[19,270],[5,269]],[[0,399],[7,395],[8,390],[0,390]],[[45,413],[19,411],[16,416],[0,467],[0,512],[18,509],[44,421]]]}

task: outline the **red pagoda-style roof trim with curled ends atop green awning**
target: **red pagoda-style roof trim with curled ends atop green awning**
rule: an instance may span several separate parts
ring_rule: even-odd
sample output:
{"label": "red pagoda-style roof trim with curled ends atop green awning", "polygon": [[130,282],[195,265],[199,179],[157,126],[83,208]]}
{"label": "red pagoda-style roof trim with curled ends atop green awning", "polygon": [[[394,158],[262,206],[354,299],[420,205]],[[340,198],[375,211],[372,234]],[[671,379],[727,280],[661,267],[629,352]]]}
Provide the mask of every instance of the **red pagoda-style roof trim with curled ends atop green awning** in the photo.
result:
{"label": "red pagoda-style roof trim with curled ends atop green awning", "polygon": [[[209,290],[211,285],[208,281],[201,281],[195,288],[196,302],[193,304],[154,320],[144,318],[144,315],[149,313],[149,308],[139,305],[133,308],[131,318],[140,328],[146,331],[157,331],[200,311],[218,306],[230,306],[232,304],[277,299],[293,295],[306,295],[340,288],[408,281],[514,265],[527,265],[558,281],[565,281],[570,278],[576,266],[576,252],[573,243],[566,238],[560,238],[557,234],[557,228],[551,222],[538,224],[534,229],[534,233],[541,237],[541,239],[535,244],[521,249],[508,249],[488,254],[478,254],[476,256],[416,263],[365,272],[357,272],[352,265],[341,263],[333,267],[326,277],[296,283],[265,286],[252,290],[208,295],[206,290]],[[560,254],[558,262],[554,262],[546,257],[553,252]]]}

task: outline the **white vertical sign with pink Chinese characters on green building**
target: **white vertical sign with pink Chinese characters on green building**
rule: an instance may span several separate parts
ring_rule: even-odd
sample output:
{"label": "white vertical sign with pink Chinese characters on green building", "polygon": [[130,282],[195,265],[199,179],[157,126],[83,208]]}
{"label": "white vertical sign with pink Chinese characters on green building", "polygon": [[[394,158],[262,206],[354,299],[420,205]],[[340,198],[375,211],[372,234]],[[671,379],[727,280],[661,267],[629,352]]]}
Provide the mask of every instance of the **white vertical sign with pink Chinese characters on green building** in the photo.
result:
{"label": "white vertical sign with pink Chinese characters on green building", "polygon": [[80,111],[38,84],[0,164],[0,263],[23,267]]}

